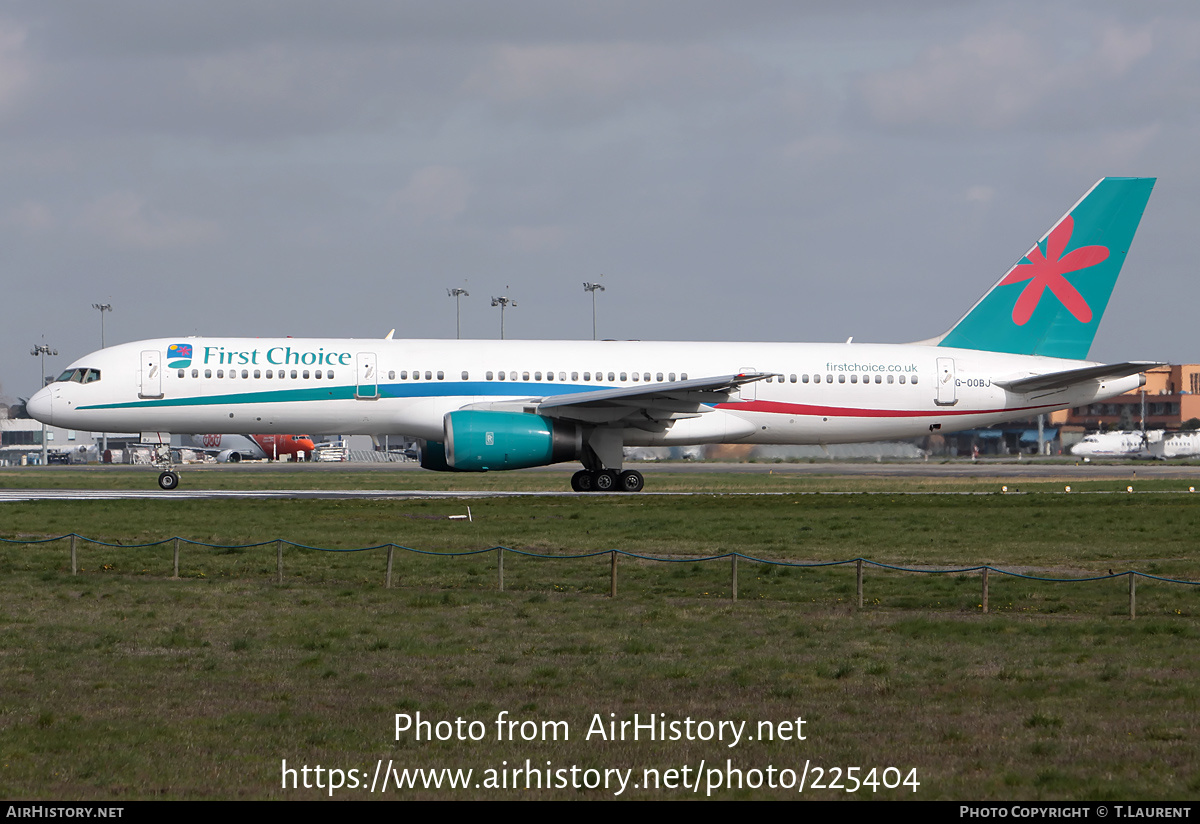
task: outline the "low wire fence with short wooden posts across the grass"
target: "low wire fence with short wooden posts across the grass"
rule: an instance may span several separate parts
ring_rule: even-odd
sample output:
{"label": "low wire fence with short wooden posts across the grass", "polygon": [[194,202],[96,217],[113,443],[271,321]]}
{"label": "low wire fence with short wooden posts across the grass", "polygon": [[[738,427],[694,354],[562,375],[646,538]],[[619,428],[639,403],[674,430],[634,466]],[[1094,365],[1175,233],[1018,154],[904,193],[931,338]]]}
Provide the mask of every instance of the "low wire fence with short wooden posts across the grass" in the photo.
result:
{"label": "low wire fence with short wooden posts across the grass", "polygon": [[277,583],[283,583],[283,549],[284,547],[290,547],[294,549],[308,549],[314,552],[329,552],[329,553],[358,553],[358,552],[386,552],[386,571],[384,573],[384,588],[391,589],[392,587],[392,567],[395,561],[396,551],[402,551],[406,553],[412,553],[415,555],[430,555],[437,558],[464,558],[472,555],[484,555],[488,553],[496,553],[496,571],[497,571],[497,587],[499,591],[504,591],[504,555],[510,553],[514,555],[535,558],[541,560],[583,560],[588,558],[604,558],[608,557],[611,559],[611,572],[610,572],[610,596],[617,597],[617,567],[619,558],[629,558],[631,560],[649,561],[655,564],[703,564],[710,561],[730,561],[730,596],[732,601],[738,600],[738,560],[748,561],[751,564],[762,564],[773,567],[790,567],[790,569],[822,569],[822,567],[835,567],[835,566],[850,566],[854,565],[854,581],[856,581],[856,600],[857,607],[863,608],[863,569],[875,567],[878,570],[888,570],[892,572],[906,572],[914,575],[968,575],[978,572],[980,577],[982,585],[982,607],[983,612],[989,612],[989,577],[995,573],[1009,578],[1019,578],[1024,581],[1037,581],[1044,583],[1055,584],[1080,584],[1098,581],[1112,581],[1117,578],[1126,578],[1129,584],[1129,618],[1136,618],[1136,591],[1138,591],[1138,579],[1144,578],[1146,581],[1153,581],[1166,584],[1180,584],[1182,587],[1200,587],[1198,581],[1188,581],[1184,578],[1170,578],[1164,576],[1157,576],[1148,572],[1141,572],[1138,570],[1127,570],[1124,572],[1109,572],[1108,575],[1086,576],[1081,578],[1056,578],[1050,576],[1030,575],[1027,572],[1016,572],[1013,570],[1004,570],[1001,567],[980,564],[976,566],[959,566],[959,567],[942,567],[942,569],[928,569],[928,567],[910,567],[899,566],[895,564],[884,564],[882,561],[874,561],[869,558],[850,558],[839,561],[785,561],[775,560],[769,558],[755,558],[752,555],[746,555],[739,552],[727,552],[716,555],[698,555],[688,558],[670,557],[665,558],[661,555],[646,555],[636,552],[629,552],[626,549],[598,549],[594,552],[581,552],[574,554],[547,554],[530,552],[528,549],[516,549],[512,547],[493,546],[482,549],[467,549],[462,552],[432,552],[428,549],[416,549],[414,547],[406,547],[398,543],[378,543],[368,547],[354,547],[354,548],[331,548],[331,547],[313,547],[306,543],[296,543],[295,541],[289,541],[287,539],[274,539],[270,541],[258,541],[254,543],[206,543],[204,541],[193,541],[186,537],[167,537],[160,541],[150,541],[146,543],[110,543],[107,541],[101,541],[97,539],[90,539],[78,533],[68,533],[66,535],[59,535],[55,537],[44,539],[2,539],[0,537],[0,543],[7,545],[25,545],[36,546],[43,543],[55,543],[58,541],[68,541],[71,547],[71,575],[79,573],[78,563],[78,545],[79,542],[92,543],[101,547],[112,547],[120,549],[145,549],[154,547],[162,547],[170,545],[173,548],[173,560],[174,560],[174,572],[173,577],[179,578],[179,558],[180,548],[182,546],[204,547],[209,549],[254,549],[258,547],[275,547],[276,552],[276,581]]}

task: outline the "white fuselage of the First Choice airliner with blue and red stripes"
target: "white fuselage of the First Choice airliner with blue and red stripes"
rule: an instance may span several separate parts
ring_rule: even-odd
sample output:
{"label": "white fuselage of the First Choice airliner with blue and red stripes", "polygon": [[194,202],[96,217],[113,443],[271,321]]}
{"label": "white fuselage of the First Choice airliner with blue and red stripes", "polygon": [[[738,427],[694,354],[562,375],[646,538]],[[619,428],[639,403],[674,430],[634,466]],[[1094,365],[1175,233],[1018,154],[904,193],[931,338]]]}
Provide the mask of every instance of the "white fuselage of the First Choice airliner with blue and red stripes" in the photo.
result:
{"label": "white fuselage of the First Choice airliner with blue and red stripes", "polygon": [[[188,363],[170,366],[164,353],[181,341]],[[1134,374],[1031,393],[994,383],[1087,365],[928,344],[164,338],[79,359],[71,368],[86,378],[40,390],[29,410],[97,432],[439,440],[445,415],[472,404],[769,372],[778,377],[666,431],[626,427],[623,443],[835,444],[1027,419],[1141,383]]]}

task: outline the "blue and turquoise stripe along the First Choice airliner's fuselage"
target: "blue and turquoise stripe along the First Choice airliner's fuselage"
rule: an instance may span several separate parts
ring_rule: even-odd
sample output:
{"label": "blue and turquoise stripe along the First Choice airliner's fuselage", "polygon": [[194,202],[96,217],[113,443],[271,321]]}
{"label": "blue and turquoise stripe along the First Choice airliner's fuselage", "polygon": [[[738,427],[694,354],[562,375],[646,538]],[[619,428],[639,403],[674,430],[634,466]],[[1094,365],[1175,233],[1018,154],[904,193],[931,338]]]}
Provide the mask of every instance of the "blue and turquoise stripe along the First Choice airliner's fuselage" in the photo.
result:
{"label": "blue and turquoise stripe along the First Choice airliner's fuselage", "polygon": [[[312,386],[306,389],[280,389],[266,392],[239,392],[236,395],[204,395],[199,397],[163,398],[160,401],[130,401],[126,403],[98,403],[79,407],[84,409],[164,409],[178,407],[216,407],[247,403],[304,403],[310,401],[353,401],[355,385],[348,386]],[[576,384],[535,384],[524,381],[452,381],[452,383],[414,383],[380,384],[379,396],[384,398],[428,398],[428,397],[468,397],[468,396],[536,396],[574,395],[595,391],[595,386]],[[601,386],[601,389],[607,389]],[[613,387],[616,389],[616,387]]]}

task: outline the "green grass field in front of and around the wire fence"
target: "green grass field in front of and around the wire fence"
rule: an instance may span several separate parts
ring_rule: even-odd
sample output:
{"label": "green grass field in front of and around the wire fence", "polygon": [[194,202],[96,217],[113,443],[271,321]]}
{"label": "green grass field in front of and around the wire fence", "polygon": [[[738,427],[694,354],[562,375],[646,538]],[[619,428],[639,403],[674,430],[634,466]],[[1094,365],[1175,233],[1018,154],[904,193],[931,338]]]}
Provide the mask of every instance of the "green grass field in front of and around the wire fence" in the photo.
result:
{"label": "green grass field in front of and around the wire fence", "polygon": [[[68,487],[97,477],[48,474]],[[144,487],[146,477],[137,481]],[[380,481],[430,488],[431,477],[438,476],[371,474],[370,481],[372,488]],[[283,486],[335,479],[287,473]],[[562,480],[482,479],[547,488]],[[0,485],[10,481],[0,475]],[[199,473],[188,474],[193,481],[202,482]],[[384,589],[378,549],[289,547],[280,585],[274,545],[185,545],[178,581],[170,579],[169,545],[80,542],[77,576],[65,541],[5,546],[0,796],[328,798],[326,789],[281,788],[283,759],[294,769],[361,770],[364,783],[380,759],[397,770],[474,770],[466,789],[391,787],[382,798],[614,796],[602,783],[526,789],[524,774],[516,789],[511,774],[506,788],[486,786],[485,770],[524,768],[526,759],[544,784],[547,769],[565,770],[568,783],[604,775],[583,770],[632,770],[620,798],[703,798],[718,777],[718,798],[796,798],[794,787],[748,784],[754,770],[776,784],[788,781],[780,770],[794,770],[798,781],[805,763],[802,798],[1200,796],[1200,588],[1140,581],[1130,621],[1124,578],[1066,584],[992,575],[991,614],[984,615],[978,573],[868,569],[859,611],[853,566],[743,560],[732,603],[728,560],[686,560],[728,552],[803,563],[862,555],[922,569],[990,564],[1051,577],[1138,570],[1200,581],[1195,495],[900,494],[996,486],[936,479],[793,477],[790,487],[762,475],[655,481],[655,488],[714,494],[473,500],[469,523],[449,519],[464,512],[456,500],[4,504],[5,539],[74,531],[121,545],[175,535],[224,545],[282,537],[331,549],[395,542],[434,553],[503,545],[548,555],[624,549],[682,563],[622,559],[618,595],[610,599],[608,555],[506,553],[499,593],[494,553],[397,553],[395,585]],[[1180,488],[1159,481],[1139,489],[1156,485]],[[822,486],[862,494],[805,494]],[[1092,486],[1116,491],[1124,482]],[[716,494],[734,489],[787,494]],[[566,722],[570,738],[497,740],[504,711],[509,720]],[[416,712],[434,722],[480,721],[474,729],[485,733],[479,741],[418,741],[412,733],[397,740],[396,714]],[[620,722],[635,714],[643,722],[652,714],[667,722],[746,722],[755,740],[650,741],[644,732],[637,741],[588,740],[596,715]],[[805,740],[758,740],[760,722],[798,717]],[[742,770],[740,789],[725,787],[727,762]],[[841,770],[842,784],[853,783],[847,768],[859,768],[859,780],[872,768],[877,778],[895,768],[889,783],[916,770],[919,787],[814,788],[814,768],[824,770],[824,782]],[[661,783],[671,769],[689,788],[634,788],[643,770],[658,770]],[[343,788],[334,798],[372,795]]]}

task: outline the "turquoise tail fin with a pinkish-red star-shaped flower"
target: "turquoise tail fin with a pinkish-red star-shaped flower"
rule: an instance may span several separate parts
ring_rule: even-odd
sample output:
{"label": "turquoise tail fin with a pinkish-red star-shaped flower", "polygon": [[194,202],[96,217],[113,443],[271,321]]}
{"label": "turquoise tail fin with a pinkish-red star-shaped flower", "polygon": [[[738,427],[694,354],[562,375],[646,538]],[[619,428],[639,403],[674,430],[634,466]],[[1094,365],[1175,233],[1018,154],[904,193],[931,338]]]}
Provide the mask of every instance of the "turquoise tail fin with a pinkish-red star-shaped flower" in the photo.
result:
{"label": "turquoise tail fin with a pinkish-red star-shaped flower", "polygon": [[937,345],[1085,360],[1154,178],[1104,178]]}

